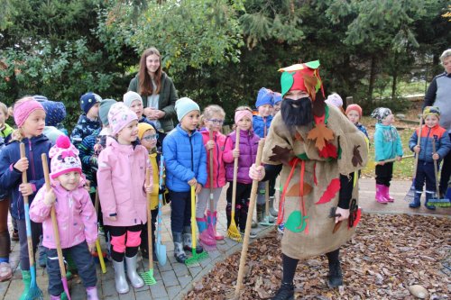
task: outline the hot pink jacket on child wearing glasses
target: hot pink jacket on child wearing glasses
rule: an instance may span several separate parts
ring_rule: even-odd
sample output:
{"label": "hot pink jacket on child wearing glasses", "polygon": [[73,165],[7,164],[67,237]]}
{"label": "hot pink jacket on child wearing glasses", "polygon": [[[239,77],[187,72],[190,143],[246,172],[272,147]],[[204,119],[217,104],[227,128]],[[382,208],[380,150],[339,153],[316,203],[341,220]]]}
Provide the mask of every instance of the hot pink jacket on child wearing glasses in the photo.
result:
{"label": "hot pink jacket on child wearing glasses", "polygon": [[[207,141],[210,141],[209,132],[207,129],[203,129],[200,133],[202,133],[204,145],[207,144]],[[213,187],[216,188],[226,186],[226,167],[223,160],[226,135],[221,132],[213,132],[213,141],[215,141],[215,148],[213,148]],[[207,151],[207,175],[205,188],[210,187],[210,151]]]}

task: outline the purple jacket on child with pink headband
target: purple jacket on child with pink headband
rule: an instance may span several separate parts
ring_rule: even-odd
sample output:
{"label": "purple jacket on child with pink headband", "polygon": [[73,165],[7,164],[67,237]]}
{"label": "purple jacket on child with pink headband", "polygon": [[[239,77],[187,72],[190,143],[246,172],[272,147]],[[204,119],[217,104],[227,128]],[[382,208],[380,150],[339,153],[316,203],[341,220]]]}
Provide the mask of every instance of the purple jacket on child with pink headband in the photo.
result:
{"label": "purple jacket on child with pink headband", "polygon": [[[232,151],[235,149],[236,133],[231,132],[226,138],[226,147],[224,149],[223,159],[226,162],[226,180],[234,180],[234,156]],[[250,184],[253,180],[249,177],[249,168],[257,158],[258,142],[260,138],[253,131],[240,132],[240,157],[238,158],[237,182]]]}

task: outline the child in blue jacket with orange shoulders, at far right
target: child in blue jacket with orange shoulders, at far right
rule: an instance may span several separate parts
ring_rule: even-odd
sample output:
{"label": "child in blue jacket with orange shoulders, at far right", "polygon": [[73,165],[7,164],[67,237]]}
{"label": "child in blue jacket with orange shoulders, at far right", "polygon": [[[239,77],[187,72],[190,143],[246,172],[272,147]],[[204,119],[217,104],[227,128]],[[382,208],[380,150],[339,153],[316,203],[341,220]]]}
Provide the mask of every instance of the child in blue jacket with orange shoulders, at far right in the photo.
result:
{"label": "child in blue jacket with orange shoulders, at far right", "polygon": [[[438,125],[440,119],[440,110],[437,106],[426,106],[423,111],[424,125],[421,126],[421,132],[417,129],[413,132],[409,141],[410,150],[419,156],[417,165],[417,174],[415,176],[415,197],[409,207],[418,208],[420,204],[421,194],[423,193],[423,185],[426,180],[426,203],[428,209],[434,210],[436,206],[428,205],[429,200],[434,197],[436,192],[436,175],[434,170],[434,160],[440,165],[440,160],[446,157],[451,150],[451,142],[446,129]],[[417,145],[420,134],[419,146]],[[432,148],[432,143],[436,144],[436,151]],[[437,195],[438,196],[438,195]]]}

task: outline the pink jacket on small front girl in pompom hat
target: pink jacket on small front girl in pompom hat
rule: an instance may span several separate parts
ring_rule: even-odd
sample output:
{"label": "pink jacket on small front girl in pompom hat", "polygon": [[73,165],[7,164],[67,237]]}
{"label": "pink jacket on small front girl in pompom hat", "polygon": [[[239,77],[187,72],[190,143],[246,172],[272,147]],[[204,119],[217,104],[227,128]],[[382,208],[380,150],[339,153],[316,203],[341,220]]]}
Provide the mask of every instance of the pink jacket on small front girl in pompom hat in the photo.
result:
{"label": "pink jacket on small front girl in pompom hat", "polygon": [[[60,232],[60,245],[62,249],[78,245],[83,241],[94,243],[97,240],[97,214],[94,211],[91,198],[83,187],[85,180],[73,191],[68,191],[59,183],[52,185],[57,200],[55,212]],[[30,219],[42,223],[42,245],[56,249],[51,224],[51,205],[44,204],[46,187],[42,186],[30,207]]]}

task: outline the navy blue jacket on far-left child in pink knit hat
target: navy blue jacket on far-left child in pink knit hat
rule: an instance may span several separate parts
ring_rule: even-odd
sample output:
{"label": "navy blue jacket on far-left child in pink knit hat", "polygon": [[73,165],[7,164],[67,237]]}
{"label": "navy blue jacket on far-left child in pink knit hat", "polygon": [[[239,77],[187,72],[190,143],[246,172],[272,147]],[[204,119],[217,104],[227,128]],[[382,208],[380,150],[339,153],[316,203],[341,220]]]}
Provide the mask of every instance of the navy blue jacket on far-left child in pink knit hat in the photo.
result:
{"label": "navy blue jacket on far-left child in pink knit hat", "polygon": [[[49,154],[51,142],[41,134],[32,137],[31,140],[23,139],[25,144],[25,155],[29,161],[27,169],[28,182],[34,185],[33,194],[28,196],[28,201],[32,203],[34,195],[44,185],[44,172],[42,170],[41,154]],[[11,214],[15,219],[23,220],[23,196],[19,192],[19,185],[22,184],[22,173],[13,168],[14,164],[21,158],[20,142],[11,141],[0,154],[0,186],[12,192]],[[49,166],[51,165],[50,159]]]}

